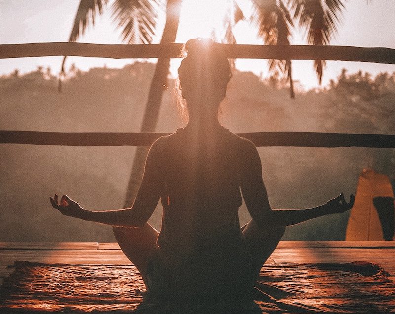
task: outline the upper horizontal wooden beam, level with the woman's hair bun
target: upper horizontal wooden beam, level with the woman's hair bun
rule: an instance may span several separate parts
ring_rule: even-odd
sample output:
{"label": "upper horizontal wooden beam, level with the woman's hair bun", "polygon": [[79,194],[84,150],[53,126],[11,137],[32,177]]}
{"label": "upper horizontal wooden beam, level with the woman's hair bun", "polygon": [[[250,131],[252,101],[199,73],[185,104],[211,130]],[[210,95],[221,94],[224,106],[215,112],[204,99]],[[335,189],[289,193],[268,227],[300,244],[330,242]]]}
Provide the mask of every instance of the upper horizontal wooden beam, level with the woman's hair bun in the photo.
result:
{"label": "upper horizontal wooden beam, level with the woman's hair bun", "polygon": [[[228,58],[342,60],[395,64],[395,49],[351,46],[222,44]],[[79,42],[45,42],[0,45],[0,58],[81,56],[113,59],[177,58],[181,43],[107,45]]]}

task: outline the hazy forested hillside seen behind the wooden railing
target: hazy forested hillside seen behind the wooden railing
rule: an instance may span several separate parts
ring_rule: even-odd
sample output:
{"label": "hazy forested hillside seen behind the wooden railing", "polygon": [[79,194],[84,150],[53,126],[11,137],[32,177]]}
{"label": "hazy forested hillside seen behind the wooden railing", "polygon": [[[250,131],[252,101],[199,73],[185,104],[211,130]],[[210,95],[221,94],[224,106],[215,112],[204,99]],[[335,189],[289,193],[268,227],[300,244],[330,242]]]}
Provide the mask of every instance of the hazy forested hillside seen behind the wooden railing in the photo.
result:
{"label": "hazy forested hillside seen behind the wooden railing", "polygon": [[[151,63],[123,69],[72,68],[57,91],[49,70],[0,77],[0,129],[58,132],[138,132]],[[281,80],[235,72],[221,122],[232,132],[316,131],[395,134],[395,73],[339,75],[325,90],[296,99]],[[165,93],[157,128],[183,126],[174,81]],[[369,148],[258,148],[274,208],[306,208],[340,192],[354,193],[363,168],[395,179],[395,150]],[[0,241],[114,241],[111,227],[62,216],[49,196],[68,194],[87,209],[124,202],[134,147],[62,147],[0,144]],[[284,239],[341,240],[348,213],[288,227]],[[160,228],[158,207],[151,223]],[[240,220],[248,221],[243,207]]]}

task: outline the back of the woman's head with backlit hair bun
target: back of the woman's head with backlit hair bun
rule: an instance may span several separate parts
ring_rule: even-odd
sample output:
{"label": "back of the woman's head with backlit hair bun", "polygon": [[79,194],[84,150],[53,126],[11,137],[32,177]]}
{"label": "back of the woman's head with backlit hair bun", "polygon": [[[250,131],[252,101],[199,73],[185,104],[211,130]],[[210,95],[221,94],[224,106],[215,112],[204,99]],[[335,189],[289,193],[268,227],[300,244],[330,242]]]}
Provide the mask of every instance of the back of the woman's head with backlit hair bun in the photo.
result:
{"label": "back of the woman's head with backlit hair bun", "polygon": [[182,97],[188,111],[210,108],[190,108],[191,103],[216,106],[225,98],[231,78],[229,61],[223,48],[210,39],[190,39],[185,44],[187,56],[178,68]]}

